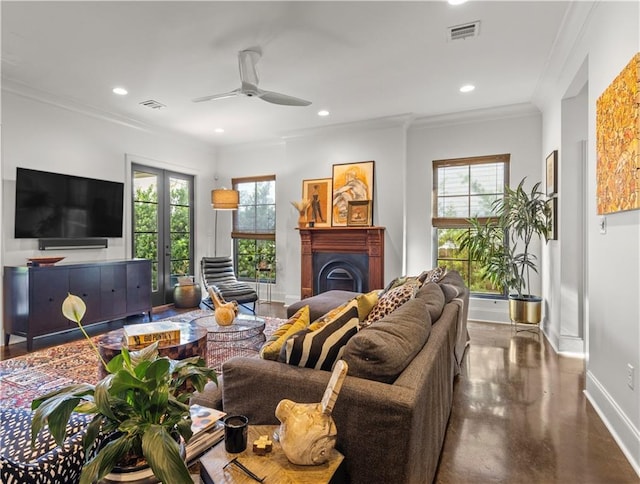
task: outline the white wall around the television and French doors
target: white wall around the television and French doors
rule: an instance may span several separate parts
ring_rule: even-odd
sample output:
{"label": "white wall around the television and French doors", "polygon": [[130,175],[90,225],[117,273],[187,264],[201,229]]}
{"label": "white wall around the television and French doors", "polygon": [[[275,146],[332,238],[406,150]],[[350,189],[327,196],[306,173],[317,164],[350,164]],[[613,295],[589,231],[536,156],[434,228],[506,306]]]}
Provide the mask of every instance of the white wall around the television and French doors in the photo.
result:
{"label": "white wall around the television and French doors", "polygon": [[[125,154],[195,175],[195,261],[211,245],[215,152],[204,144],[167,133],[154,133],[64,109],[11,92],[2,93],[2,261],[24,265],[28,257],[52,255],[38,250],[35,239],[15,239],[16,167],[129,182]],[[125,206],[130,213],[130,199]],[[71,262],[122,259],[130,256],[130,219],[125,237],[109,239],[108,249],[60,251]],[[56,252],[58,254],[58,252]],[[197,272],[197,271],[196,271]]]}

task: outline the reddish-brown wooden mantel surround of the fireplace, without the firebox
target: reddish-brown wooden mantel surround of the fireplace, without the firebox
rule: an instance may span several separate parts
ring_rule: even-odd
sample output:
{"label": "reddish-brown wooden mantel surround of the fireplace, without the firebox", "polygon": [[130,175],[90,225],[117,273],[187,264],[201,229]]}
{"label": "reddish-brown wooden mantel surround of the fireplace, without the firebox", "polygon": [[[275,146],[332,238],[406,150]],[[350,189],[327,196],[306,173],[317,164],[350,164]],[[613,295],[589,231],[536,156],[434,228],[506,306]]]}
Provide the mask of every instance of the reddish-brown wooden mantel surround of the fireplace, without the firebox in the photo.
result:
{"label": "reddish-brown wooden mantel surround of the fireplace, without the firebox", "polygon": [[367,254],[369,288],[384,287],[384,227],[314,227],[301,228],[301,297],[314,295],[313,254],[335,252]]}

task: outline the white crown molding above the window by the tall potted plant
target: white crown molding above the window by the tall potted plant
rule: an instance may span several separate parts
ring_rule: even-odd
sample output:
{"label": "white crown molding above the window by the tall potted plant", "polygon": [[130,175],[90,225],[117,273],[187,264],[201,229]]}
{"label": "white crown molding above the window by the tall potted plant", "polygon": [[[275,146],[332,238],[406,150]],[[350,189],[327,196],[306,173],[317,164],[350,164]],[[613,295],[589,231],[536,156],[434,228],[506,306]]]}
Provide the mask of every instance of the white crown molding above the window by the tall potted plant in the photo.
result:
{"label": "white crown molding above the window by the tall potted plant", "polygon": [[509,104],[490,108],[473,109],[457,113],[425,116],[411,123],[410,129],[435,128],[453,126],[458,124],[477,123],[508,118],[522,118],[525,116],[538,116],[540,111],[531,103]]}

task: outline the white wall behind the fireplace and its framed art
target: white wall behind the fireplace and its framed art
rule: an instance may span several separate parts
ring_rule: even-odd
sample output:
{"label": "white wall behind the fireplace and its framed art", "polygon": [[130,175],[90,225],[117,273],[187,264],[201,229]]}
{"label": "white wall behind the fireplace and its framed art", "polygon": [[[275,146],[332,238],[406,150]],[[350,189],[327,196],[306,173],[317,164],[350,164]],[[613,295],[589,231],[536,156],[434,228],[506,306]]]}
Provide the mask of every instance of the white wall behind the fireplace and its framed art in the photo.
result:
{"label": "white wall behind the fireplace and its framed art", "polygon": [[286,304],[300,299],[298,215],[289,202],[300,200],[302,180],[331,178],[333,164],[375,162],[373,223],[386,227],[385,279],[401,273],[405,144],[404,122],[394,119],[292,136],[275,146],[218,151],[219,172],[226,177],[276,175],[278,283],[274,299]]}

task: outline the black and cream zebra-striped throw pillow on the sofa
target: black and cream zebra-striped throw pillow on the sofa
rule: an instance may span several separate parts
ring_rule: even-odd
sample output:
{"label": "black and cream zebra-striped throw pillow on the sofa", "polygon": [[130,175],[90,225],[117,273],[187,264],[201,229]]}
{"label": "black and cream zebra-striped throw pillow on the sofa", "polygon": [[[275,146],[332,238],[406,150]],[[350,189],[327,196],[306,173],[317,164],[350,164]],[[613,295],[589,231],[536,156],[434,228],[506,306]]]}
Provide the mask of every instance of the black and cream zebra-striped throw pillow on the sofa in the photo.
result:
{"label": "black and cream zebra-striped throw pillow on the sofa", "polygon": [[331,371],[347,341],[358,332],[358,308],[349,305],[322,327],[311,326],[291,336],[280,351],[280,360],[305,368]]}

